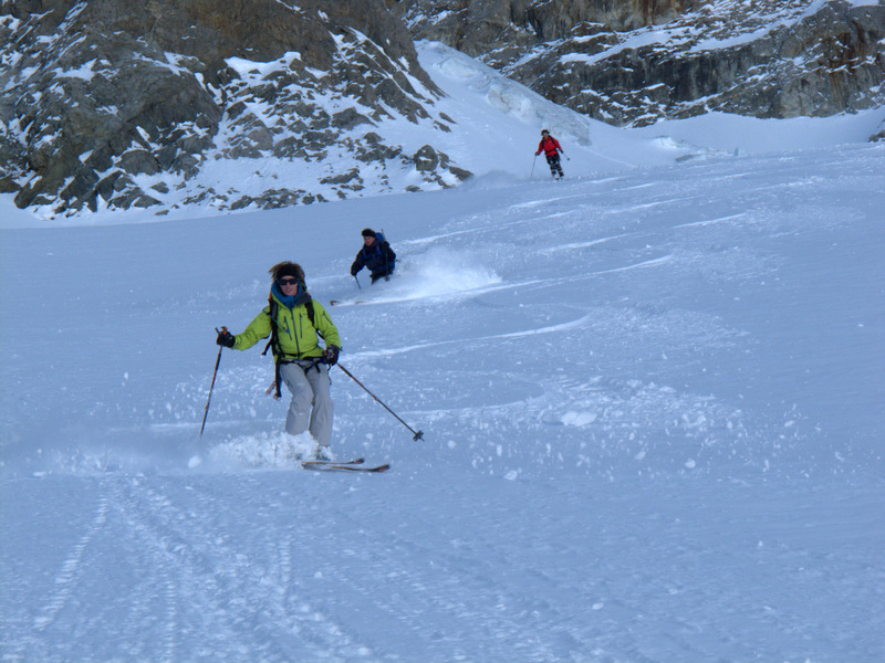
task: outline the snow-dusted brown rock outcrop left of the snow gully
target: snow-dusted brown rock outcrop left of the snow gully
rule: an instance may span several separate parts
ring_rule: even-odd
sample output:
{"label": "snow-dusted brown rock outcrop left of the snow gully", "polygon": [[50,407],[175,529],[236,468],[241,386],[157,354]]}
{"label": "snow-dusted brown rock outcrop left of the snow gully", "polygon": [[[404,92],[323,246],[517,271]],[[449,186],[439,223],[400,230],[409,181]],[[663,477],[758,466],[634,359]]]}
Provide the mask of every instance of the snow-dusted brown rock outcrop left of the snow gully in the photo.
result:
{"label": "snow-dusted brown rock outcrop left of the snow gully", "polygon": [[[381,0],[14,0],[0,7],[0,191],[55,212],[163,207],[171,189],[220,209],[346,197],[415,168],[377,123],[447,128]],[[341,172],[287,185],[331,151]],[[227,158],[256,159],[251,187],[197,177]],[[420,181],[466,177],[447,166]]]}

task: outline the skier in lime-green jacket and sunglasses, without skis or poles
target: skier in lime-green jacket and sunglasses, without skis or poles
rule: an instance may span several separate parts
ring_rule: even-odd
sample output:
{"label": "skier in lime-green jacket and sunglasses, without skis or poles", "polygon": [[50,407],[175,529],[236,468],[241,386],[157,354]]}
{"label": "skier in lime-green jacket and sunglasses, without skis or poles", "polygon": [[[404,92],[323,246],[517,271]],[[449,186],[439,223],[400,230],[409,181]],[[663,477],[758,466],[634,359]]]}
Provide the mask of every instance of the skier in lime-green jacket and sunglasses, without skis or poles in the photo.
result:
{"label": "skier in lime-green jacket and sunglasses, without skis or poles", "polygon": [[[222,328],[216,343],[246,350],[271,337],[268,347],[275,364],[275,398],[281,396],[281,382],[292,393],[285,432],[298,435],[310,430],[317,444],[315,456],[327,460],[333,415],[329,368],[339,360],[339,330],[325,308],[308,293],[301,265],[284,261],[273,265],[269,273],[273,284],[268,306],[240,334]],[[320,346],[317,337],[323,339],[325,348]]]}

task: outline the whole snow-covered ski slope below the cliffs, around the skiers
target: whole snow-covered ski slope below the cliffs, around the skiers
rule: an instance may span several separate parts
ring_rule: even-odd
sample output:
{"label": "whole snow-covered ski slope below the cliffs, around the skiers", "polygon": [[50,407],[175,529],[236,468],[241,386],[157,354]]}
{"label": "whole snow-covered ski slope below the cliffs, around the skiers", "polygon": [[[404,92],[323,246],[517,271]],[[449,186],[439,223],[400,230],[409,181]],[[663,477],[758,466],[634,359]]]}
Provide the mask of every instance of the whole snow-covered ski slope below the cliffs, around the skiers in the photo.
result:
{"label": "whole snow-covered ski slope below the cliffs, around the skiers", "polygon": [[[457,190],[6,217],[0,657],[883,660],[870,118],[581,145],[440,53],[471,145],[516,137]],[[568,137],[563,182],[530,171],[540,124]],[[364,227],[400,262],[357,290]],[[259,347],[222,352],[198,436],[214,327],[241,330],[283,259],[343,301],[342,364],[425,433],[333,370],[334,451],[386,474],[298,470]]]}

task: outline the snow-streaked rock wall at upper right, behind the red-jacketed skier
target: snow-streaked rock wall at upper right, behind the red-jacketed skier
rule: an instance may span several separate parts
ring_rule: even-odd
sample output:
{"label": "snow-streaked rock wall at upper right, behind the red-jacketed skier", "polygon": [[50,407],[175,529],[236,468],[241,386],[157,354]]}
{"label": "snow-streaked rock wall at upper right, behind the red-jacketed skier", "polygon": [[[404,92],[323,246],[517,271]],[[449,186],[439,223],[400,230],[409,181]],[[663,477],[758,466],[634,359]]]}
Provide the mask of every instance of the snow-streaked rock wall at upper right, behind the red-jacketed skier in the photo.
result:
{"label": "snow-streaked rock wall at upper right, behind the red-jacketed skier", "polygon": [[841,0],[402,0],[418,39],[617,125],[885,104],[885,4]]}

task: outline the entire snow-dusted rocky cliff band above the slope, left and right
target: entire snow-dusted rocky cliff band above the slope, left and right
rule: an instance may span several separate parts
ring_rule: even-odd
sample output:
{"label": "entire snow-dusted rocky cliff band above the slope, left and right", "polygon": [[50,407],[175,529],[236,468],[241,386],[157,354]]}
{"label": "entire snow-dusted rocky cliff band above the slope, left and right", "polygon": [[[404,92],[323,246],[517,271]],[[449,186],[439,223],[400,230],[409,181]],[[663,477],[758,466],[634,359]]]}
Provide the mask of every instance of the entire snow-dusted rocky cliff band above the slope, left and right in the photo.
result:
{"label": "entire snow-dusted rocky cliff band above the slope, left and right", "polygon": [[455,186],[414,39],[614,125],[885,104],[882,1],[6,0],[0,192],[52,215]]}

